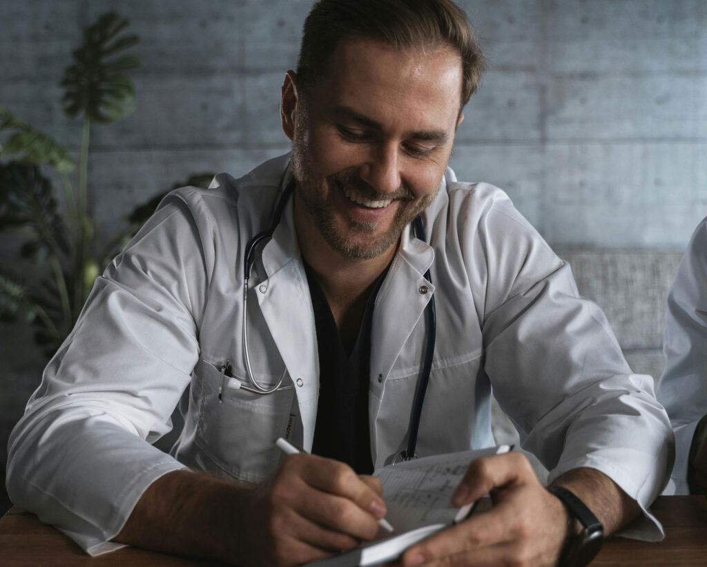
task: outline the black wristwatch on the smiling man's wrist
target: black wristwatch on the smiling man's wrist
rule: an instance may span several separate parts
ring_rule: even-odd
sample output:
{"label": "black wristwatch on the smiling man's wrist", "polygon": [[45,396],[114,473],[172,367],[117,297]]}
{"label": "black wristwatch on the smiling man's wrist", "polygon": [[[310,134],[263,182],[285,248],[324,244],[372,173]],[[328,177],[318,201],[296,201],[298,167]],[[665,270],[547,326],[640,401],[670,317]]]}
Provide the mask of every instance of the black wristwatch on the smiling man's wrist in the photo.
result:
{"label": "black wristwatch on the smiling man's wrist", "polygon": [[[579,520],[583,530],[570,536],[560,554],[561,567],[584,567],[595,558],[604,542],[604,526],[583,501],[562,486],[549,486],[548,492],[557,496],[569,510],[571,518]],[[574,525],[574,522],[572,522]]]}

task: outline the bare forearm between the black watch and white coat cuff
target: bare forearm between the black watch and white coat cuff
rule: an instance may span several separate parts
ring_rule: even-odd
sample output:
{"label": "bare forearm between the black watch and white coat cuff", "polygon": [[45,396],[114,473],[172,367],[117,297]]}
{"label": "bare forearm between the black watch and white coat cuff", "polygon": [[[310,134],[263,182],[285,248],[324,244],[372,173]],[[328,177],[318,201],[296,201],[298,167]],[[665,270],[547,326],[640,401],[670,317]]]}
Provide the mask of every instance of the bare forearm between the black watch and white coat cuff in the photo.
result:
{"label": "bare forearm between the black watch and white coat cuff", "polygon": [[641,513],[641,508],[606,474],[589,468],[572,469],[551,484],[573,492],[604,526],[604,536],[617,532]]}

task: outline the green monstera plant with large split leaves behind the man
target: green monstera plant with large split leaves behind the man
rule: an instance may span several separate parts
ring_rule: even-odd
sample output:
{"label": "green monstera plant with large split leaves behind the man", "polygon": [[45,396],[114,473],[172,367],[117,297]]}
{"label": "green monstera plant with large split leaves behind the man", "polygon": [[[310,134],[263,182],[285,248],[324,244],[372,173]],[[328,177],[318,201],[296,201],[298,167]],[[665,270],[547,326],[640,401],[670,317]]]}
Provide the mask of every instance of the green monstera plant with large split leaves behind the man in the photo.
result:
{"label": "green monstera plant with large split leaves behind the man", "polygon": [[[52,137],[34,129],[0,105],[0,231],[25,237],[19,262],[0,267],[0,320],[25,321],[35,327],[37,344],[52,353],[76,322],[100,269],[134,235],[154,210],[153,199],[139,206],[103,250],[94,239],[88,209],[88,156],[94,124],[110,124],[135,109],[135,90],[127,71],[141,62],[124,51],[139,42],[125,34],[129,22],[115,12],[104,13],[83,32],[81,47],[64,72],[62,106],[81,119],[78,165]],[[64,189],[65,216],[42,168],[52,168]],[[204,174],[206,175],[206,174]],[[201,180],[199,180],[201,181]],[[162,197],[163,195],[160,195]],[[157,198],[156,198],[157,199]],[[27,263],[35,264],[28,277]]]}

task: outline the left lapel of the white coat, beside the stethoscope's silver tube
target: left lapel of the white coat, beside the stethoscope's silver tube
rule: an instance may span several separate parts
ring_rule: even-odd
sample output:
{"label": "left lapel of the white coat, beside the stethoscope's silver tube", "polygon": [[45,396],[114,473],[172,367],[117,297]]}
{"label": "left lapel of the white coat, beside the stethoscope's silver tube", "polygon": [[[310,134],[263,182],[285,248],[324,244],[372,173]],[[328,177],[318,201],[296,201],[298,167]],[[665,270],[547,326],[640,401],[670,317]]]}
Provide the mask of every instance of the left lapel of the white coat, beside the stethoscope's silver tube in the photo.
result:
{"label": "left lapel of the white coat, beside the stethoscope's silver tube", "polygon": [[[303,448],[312,449],[319,398],[319,357],[314,311],[294,227],[293,202],[262,252],[266,279],[252,287],[260,310],[293,382],[302,423]],[[296,438],[293,438],[296,440]]]}

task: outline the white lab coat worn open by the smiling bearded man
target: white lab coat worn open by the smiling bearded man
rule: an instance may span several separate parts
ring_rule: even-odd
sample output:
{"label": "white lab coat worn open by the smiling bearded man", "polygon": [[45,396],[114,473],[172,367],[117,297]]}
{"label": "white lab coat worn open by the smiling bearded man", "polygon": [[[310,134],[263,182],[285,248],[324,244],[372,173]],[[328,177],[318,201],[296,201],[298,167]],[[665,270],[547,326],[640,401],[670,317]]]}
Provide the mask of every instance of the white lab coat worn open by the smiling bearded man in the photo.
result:
{"label": "white lab coat worn open by the smiling bearded man", "polygon": [[[208,190],[186,187],[165,199],[95,283],[13,431],[11,498],[90,553],[117,546],[107,540],[166,472],[187,466],[257,482],[281,459],[274,438],[289,430],[311,448],[317,344],[291,202],[255,263],[247,317],[256,377],[272,383],[285,366],[301,385],[267,396],[228,387],[218,402],[226,359],[245,379],[245,243],[269,226],[287,164],[288,156],[276,158],[240,180],[217,175]],[[653,380],[631,373],[601,310],[578,297],[568,264],[500,189],[456,182],[451,170],[423,221],[428,242],[404,230],[375,301],[375,467],[406,444],[423,311],[434,293],[436,349],[418,454],[493,445],[493,385],[551,478],[599,469],[645,511],[672,465],[670,424]],[[177,403],[185,428],[170,456],[145,440],[170,430]],[[645,514],[627,533],[660,539]]]}

